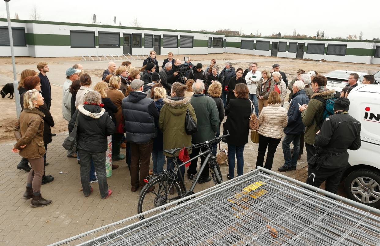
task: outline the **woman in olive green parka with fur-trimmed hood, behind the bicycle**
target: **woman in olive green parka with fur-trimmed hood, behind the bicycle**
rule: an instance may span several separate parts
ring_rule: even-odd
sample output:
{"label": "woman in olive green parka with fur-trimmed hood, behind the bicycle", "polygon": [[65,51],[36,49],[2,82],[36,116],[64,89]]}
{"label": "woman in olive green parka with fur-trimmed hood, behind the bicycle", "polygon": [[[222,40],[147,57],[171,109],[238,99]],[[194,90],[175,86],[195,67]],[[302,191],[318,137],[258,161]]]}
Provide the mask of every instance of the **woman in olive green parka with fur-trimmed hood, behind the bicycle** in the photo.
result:
{"label": "woman in olive green parka with fur-trimmed hood, behind the bicycle", "polygon": [[[165,98],[164,106],[160,111],[160,118],[158,121],[158,127],[163,133],[164,150],[183,148],[184,146],[190,146],[191,135],[187,135],[185,130],[185,117],[186,111],[189,110],[190,116],[196,123],[196,116],[193,106],[190,104],[191,97],[184,97],[187,86],[181,83],[174,83],[171,86],[171,98]],[[191,149],[189,150],[189,154]],[[168,153],[164,154],[168,159],[167,170],[174,169],[174,157]],[[182,163],[179,159],[177,162]],[[185,175],[185,166],[180,168],[182,177]]]}

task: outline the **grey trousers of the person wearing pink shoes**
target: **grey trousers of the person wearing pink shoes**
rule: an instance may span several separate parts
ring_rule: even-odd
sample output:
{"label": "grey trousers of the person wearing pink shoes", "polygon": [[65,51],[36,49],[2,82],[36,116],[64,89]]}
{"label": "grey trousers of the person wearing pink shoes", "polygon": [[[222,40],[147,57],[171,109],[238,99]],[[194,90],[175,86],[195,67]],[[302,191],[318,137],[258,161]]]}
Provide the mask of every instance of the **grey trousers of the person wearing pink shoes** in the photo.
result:
{"label": "grey trousers of the person wearing pink shoes", "polygon": [[90,153],[82,149],[78,149],[78,153],[81,156],[79,160],[81,162],[81,183],[84,195],[90,195],[90,169],[91,160],[94,163],[95,170],[98,176],[98,184],[101,198],[105,198],[108,195],[108,184],[106,177],[106,152]]}

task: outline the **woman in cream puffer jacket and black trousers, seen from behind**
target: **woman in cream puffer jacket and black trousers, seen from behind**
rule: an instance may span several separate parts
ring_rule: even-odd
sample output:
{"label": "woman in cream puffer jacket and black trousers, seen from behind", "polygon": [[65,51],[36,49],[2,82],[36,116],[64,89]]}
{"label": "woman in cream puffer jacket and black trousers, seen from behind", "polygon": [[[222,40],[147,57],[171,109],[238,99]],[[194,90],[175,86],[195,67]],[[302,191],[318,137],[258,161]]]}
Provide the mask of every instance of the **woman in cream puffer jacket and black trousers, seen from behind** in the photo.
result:
{"label": "woman in cream puffer jacket and black trousers, seen from behind", "polygon": [[285,108],[281,107],[280,94],[272,91],[268,97],[268,106],[261,110],[259,115],[259,148],[256,160],[256,168],[262,167],[266,148],[268,154],[264,168],[271,170],[274,153],[283,136],[283,128],[288,125],[288,115]]}

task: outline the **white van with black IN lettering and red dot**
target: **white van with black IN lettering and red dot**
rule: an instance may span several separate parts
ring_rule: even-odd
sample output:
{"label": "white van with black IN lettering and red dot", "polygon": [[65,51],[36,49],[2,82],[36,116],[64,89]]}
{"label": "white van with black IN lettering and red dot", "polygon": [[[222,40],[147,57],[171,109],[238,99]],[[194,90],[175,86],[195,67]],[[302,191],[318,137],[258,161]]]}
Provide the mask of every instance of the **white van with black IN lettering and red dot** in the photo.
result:
{"label": "white van with black IN lettering and red dot", "polygon": [[345,171],[348,197],[369,206],[380,206],[380,86],[357,86],[348,95],[348,113],[361,122],[361,147],[348,150],[350,167]]}

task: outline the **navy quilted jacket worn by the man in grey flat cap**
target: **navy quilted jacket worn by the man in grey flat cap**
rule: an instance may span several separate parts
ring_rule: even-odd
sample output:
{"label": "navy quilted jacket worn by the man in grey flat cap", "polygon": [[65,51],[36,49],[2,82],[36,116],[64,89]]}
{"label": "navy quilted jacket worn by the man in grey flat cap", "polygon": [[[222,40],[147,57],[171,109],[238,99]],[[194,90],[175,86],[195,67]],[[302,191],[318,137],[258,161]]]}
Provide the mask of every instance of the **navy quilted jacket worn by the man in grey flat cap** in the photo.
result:
{"label": "navy quilted jacket worn by the man in grey flat cap", "polygon": [[157,137],[155,120],[158,110],[154,101],[141,91],[131,91],[122,101],[127,142],[148,143]]}

